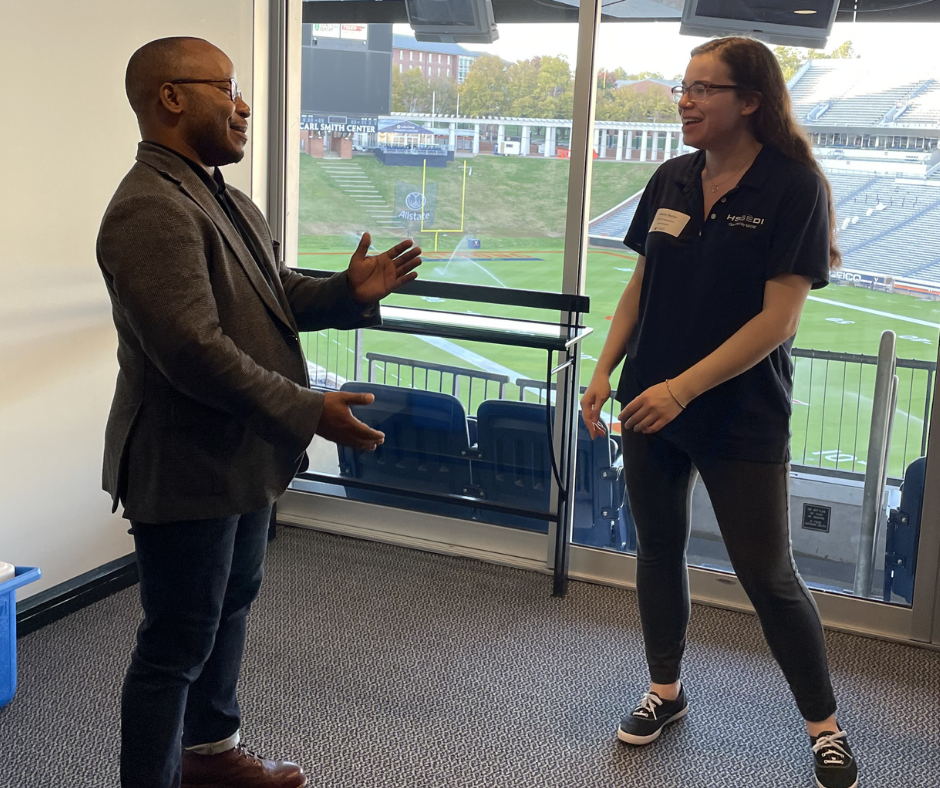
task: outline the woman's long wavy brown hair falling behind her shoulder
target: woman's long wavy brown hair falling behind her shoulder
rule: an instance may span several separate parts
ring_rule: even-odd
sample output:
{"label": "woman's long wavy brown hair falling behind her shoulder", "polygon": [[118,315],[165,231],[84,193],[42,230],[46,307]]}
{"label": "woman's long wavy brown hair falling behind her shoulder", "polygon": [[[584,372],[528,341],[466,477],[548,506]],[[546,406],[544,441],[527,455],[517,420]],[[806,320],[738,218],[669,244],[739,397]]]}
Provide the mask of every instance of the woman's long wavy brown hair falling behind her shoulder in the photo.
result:
{"label": "woman's long wavy brown hair falling behind her shoulder", "polygon": [[809,139],[793,117],[790,93],[777,59],[760,41],[741,36],[716,38],[692,50],[692,57],[706,54],[716,55],[728,67],[732,82],[739,86],[739,94],[760,94],[760,107],[750,116],[757,141],[819,173],[829,198],[829,267],[838,268],[842,265],[842,253],[836,244],[832,187],[813,156]]}

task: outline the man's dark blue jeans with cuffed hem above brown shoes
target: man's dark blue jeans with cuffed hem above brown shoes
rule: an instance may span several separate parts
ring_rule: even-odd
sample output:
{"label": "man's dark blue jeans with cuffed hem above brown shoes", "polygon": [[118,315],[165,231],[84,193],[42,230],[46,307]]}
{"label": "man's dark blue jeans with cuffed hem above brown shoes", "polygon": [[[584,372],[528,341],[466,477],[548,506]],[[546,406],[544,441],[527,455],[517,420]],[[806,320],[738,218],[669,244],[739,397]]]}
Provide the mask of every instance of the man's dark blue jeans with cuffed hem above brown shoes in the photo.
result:
{"label": "man's dark blue jeans with cuffed hem above brown shoes", "polygon": [[178,788],[182,747],[239,729],[235,686],[270,515],[131,524],[144,621],[121,698],[122,788]]}

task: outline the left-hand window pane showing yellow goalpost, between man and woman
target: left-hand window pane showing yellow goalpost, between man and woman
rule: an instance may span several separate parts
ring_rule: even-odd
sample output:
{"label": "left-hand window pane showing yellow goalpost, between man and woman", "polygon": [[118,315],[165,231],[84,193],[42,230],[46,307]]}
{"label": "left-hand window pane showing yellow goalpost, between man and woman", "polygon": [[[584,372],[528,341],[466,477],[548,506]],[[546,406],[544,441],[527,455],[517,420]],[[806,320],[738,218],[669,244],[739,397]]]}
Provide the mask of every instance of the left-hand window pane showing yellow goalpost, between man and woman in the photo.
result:
{"label": "left-hand window pane showing yellow goalpost, between man and woman", "polygon": [[[382,26],[370,25],[370,31],[373,27]],[[535,22],[520,25],[515,28],[515,37],[537,43],[542,28]],[[507,34],[512,29],[505,26]],[[567,37],[565,43],[574,51],[576,29],[556,26],[556,30],[563,32],[561,40]],[[381,31],[373,31],[370,37],[380,38]],[[393,40],[391,35],[388,39]],[[514,58],[512,52],[492,45],[474,49],[479,58],[487,58],[489,67],[497,72],[497,81],[508,84],[525,71],[515,65],[526,59],[524,51]],[[414,52],[418,53],[415,67],[420,64],[424,79],[413,79],[403,63],[390,80],[383,79],[379,71],[370,72],[370,84],[390,83],[384,106],[378,100],[383,97],[375,97],[371,103],[359,100],[355,80],[360,79],[361,71],[356,68],[344,70],[324,62],[320,68],[311,64],[304,72],[302,112],[311,120],[310,128],[302,132],[306,134],[305,148],[298,173],[299,266],[344,269],[358,242],[357,234],[368,230],[376,250],[387,249],[404,237],[415,238],[424,249],[421,276],[428,282],[559,291],[570,169],[564,152],[571,138],[573,63],[566,57],[549,56],[552,60],[546,69],[554,81],[543,86],[537,108],[533,101],[514,106],[497,85],[492,90],[461,95],[458,120],[456,85],[434,81],[443,76],[443,56],[437,53],[438,62],[434,63],[430,52],[425,59],[420,50],[407,51],[412,62]],[[342,54],[349,57],[348,52]],[[375,60],[376,54],[363,54],[363,68],[372,67],[368,61],[370,57]],[[476,62],[475,57],[464,58],[465,75]],[[332,92],[325,90],[323,73],[334,75]],[[556,114],[559,123],[545,128],[541,120],[519,120],[541,117],[537,111]],[[429,120],[432,112],[433,121]],[[338,127],[335,119],[340,119]],[[324,122],[328,120],[331,123]],[[533,314],[533,310],[487,302],[396,295],[386,303],[389,307],[420,306],[458,314],[557,320],[557,312]],[[409,389],[431,388],[438,394],[443,391],[459,401],[468,430],[476,429],[484,401],[537,403],[540,391],[544,399],[545,386],[541,390],[532,387],[532,381],[545,378],[544,351],[369,330],[313,332],[304,342],[314,381],[335,387],[372,380]],[[539,421],[537,431],[541,424]],[[474,433],[474,442],[476,438]],[[336,446],[321,446],[315,452],[314,467],[339,474],[345,460]],[[539,500],[549,488],[539,488]],[[357,495],[351,488],[345,494]],[[417,500],[399,503],[422,510]],[[539,544],[548,530],[545,520],[501,519],[483,507],[448,513],[480,523],[498,521],[515,526],[535,535]]]}

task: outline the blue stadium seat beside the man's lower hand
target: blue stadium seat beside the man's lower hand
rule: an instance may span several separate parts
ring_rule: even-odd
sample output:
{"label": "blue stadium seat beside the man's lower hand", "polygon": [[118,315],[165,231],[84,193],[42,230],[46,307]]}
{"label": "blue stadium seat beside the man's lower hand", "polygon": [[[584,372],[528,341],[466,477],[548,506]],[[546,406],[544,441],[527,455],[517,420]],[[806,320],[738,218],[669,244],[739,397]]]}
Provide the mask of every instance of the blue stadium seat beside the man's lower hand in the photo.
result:
{"label": "blue stadium seat beside the man's lower hand", "polygon": [[[374,452],[338,446],[340,474],[393,490],[473,495],[467,417],[460,400],[436,391],[348,382],[341,391],[375,395],[371,405],[354,407],[357,419],[385,433]],[[346,497],[447,517],[469,518],[470,506],[426,501],[393,492],[346,488]]]}

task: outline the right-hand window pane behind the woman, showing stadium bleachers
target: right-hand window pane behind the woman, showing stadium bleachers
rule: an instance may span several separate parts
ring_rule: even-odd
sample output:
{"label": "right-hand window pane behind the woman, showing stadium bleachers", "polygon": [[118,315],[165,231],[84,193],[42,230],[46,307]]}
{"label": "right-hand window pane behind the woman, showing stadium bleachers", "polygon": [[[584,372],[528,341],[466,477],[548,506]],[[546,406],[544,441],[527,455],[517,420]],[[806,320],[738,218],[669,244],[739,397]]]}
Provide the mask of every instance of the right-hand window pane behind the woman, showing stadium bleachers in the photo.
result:
{"label": "right-hand window pane behind the woman, showing stadium bleachers", "polygon": [[[852,37],[851,32],[839,33],[839,27],[830,39],[833,47]],[[621,25],[603,23],[600,51],[615,52],[615,41],[624,32]],[[695,41],[686,43],[683,39],[683,47],[679,47],[676,31],[668,26],[651,30],[649,35],[658,37],[663,51],[674,47],[679,54],[673,63],[651,62],[644,70],[660,69],[664,78],[681,74],[687,62],[681,49],[689,49]],[[895,106],[896,92],[912,81],[907,76],[911,66],[900,63],[904,58],[892,61],[890,55],[882,57],[870,66],[870,73],[878,74],[877,90],[869,89],[871,85],[851,87],[855,82],[852,69],[860,68],[856,61],[810,60],[803,50],[792,51],[808,60],[807,69],[791,87],[797,117],[806,117],[824,99],[831,103],[812,121],[811,137],[820,166],[832,184],[844,254],[843,268],[832,275],[830,286],[810,295],[794,345],[790,442],[795,473],[791,481],[793,551],[811,586],[910,605],[910,577],[903,567],[893,568],[893,559],[886,554],[889,526],[885,520],[889,510],[899,505],[901,480],[927,447],[940,333],[940,264],[934,251],[925,254],[922,250],[925,243],[931,250],[940,247],[940,203],[936,202],[936,189],[925,180],[931,165],[920,157],[905,155],[914,147],[923,150],[926,140],[924,145],[919,140],[914,144],[906,133],[895,132],[882,144],[877,135],[882,119]],[[604,66],[603,61],[600,65]],[[833,79],[833,73],[839,71],[845,72],[846,81],[842,93],[833,95],[830,87],[834,82],[826,79]],[[913,79],[931,84],[926,63],[921,72]],[[589,381],[610,325],[604,317],[614,313],[635,266],[636,255],[623,246],[622,239],[644,185],[663,162],[691,152],[684,147],[675,107],[665,98],[656,105],[655,117],[644,118],[624,114],[621,109],[629,105],[618,102],[620,96],[615,91],[629,86],[598,88],[595,155],[597,162],[610,163],[593,168],[594,218],[589,236],[592,249],[597,251],[589,252],[586,287],[592,299],[588,324],[595,334],[584,346],[583,384]],[[844,130],[850,118],[853,127],[862,127],[851,135]],[[652,122],[645,128],[636,128],[637,122],[648,121]],[[934,133],[934,140],[937,137],[940,132]],[[875,153],[873,147],[886,152]],[[616,184],[607,181],[614,171]],[[899,179],[899,175],[910,180]],[[888,482],[881,491],[882,508],[875,519],[863,523],[866,474],[882,459],[869,448],[870,439],[875,440],[869,428],[876,407],[872,402],[876,370],[872,358],[886,329],[897,336],[899,393],[891,441],[883,455]],[[617,379],[615,373],[612,383]],[[615,436],[620,427],[615,417],[618,410],[613,406],[611,429]],[[620,525],[612,527],[616,530]],[[859,563],[860,539],[872,538],[874,563],[866,559]],[[621,549],[627,550],[629,539],[618,539],[624,544]],[[906,555],[905,560],[913,561],[914,556]],[[689,561],[730,571],[701,483],[693,496]],[[894,573],[898,579],[892,585]]]}

